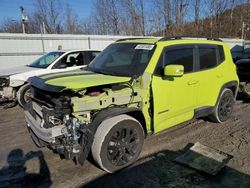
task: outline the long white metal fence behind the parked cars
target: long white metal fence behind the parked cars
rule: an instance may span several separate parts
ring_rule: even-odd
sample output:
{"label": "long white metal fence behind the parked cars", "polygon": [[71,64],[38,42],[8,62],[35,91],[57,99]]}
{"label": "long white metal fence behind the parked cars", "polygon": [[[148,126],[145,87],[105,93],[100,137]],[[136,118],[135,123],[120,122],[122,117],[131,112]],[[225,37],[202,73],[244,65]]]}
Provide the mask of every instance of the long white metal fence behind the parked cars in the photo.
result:
{"label": "long white metal fence behind the parked cars", "polygon": [[[29,64],[44,53],[63,49],[104,49],[110,43],[129,36],[10,34],[0,33],[0,69]],[[233,56],[241,55],[244,41],[223,39]]]}

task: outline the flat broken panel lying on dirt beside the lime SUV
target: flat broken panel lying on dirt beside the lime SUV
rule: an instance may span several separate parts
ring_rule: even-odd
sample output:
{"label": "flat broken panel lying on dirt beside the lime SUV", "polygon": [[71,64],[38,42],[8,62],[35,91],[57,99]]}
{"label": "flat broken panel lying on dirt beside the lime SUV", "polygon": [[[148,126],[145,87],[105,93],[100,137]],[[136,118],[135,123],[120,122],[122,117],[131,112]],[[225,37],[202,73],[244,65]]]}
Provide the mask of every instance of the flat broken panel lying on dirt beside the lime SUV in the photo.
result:
{"label": "flat broken panel lying on dirt beside the lime SUV", "polygon": [[207,174],[216,175],[232,158],[232,155],[197,142],[175,161]]}

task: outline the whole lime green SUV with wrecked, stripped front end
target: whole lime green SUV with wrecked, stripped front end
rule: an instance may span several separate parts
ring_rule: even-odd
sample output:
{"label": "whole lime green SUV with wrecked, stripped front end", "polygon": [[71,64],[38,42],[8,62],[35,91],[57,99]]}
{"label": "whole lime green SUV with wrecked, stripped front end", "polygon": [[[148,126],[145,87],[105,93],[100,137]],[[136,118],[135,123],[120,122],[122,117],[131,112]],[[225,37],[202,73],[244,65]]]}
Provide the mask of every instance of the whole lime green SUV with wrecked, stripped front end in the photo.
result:
{"label": "whole lime green SUV with wrecked, stripped front end", "polygon": [[226,121],[239,83],[226,44],[183,37],[118,40],[87,68],[29,81],[35,144],[80,164],[92,152],[110,173],[135,162],[148,135],[192,118]]}

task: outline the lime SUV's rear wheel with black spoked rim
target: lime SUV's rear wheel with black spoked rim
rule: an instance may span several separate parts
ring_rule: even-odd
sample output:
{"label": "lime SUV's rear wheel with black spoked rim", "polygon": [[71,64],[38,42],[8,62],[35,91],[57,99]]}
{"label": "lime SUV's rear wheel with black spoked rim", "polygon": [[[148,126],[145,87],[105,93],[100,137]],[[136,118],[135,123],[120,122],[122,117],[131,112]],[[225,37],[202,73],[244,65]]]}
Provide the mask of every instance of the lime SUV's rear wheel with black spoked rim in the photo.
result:
{"label": "lime SUV's rear wheel with black spoked rim", "polygon": [[234,103],[235,99],[232,90],[224,89],[215,106],[213,114],[209,116],[210,120],[216,123],[223,123],[228,120],[232,114]]}

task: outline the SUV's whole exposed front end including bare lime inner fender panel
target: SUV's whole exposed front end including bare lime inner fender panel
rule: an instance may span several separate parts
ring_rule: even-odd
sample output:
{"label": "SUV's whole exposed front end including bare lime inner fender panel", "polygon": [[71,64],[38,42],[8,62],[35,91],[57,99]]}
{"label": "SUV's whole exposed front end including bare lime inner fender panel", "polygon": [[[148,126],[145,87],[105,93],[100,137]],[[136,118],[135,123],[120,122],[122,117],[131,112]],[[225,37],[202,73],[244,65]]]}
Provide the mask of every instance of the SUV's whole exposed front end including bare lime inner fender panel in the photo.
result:
{"label": "SUV's whole exposed front end including bare lime inner fender panel", "polygon": [[25,117],[37,146],[49,147],[66,159],[76,159],[83,164],[100,123],[100,112],[140,108],[139,94],[140,90],[130,83],[60,92],[32,86],[32,101],[25,106]]}

